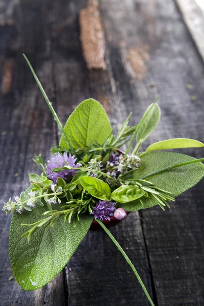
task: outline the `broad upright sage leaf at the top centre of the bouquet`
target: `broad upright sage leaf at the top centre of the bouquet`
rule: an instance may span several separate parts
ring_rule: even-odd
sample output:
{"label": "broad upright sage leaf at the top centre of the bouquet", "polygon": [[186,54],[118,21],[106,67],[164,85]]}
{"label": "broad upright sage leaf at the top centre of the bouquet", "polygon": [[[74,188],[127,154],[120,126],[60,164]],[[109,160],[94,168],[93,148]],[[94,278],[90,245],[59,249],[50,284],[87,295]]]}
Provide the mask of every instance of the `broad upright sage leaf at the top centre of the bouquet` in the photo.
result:
{"label": "broad upright sage leaf at the top centre of the bouquet", "polygon": [[[94,99],[87,99],[69,116],[64,131],[73,148],[79,148],[90,143],[103,145],[111,133],[111,126],[103,106]],[[60,146],[67,148],[63,135]]]}

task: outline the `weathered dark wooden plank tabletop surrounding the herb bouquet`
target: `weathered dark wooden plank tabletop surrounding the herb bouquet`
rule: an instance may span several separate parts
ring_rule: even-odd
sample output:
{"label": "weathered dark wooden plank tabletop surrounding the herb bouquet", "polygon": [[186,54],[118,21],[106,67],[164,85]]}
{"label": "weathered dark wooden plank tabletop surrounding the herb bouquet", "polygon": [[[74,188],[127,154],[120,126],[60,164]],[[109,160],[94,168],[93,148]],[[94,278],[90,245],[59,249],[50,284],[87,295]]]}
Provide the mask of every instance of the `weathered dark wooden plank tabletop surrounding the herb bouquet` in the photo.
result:
{"label": "weathered dark wooden plank tabletop surrounding the herb bouquet", "polygon": [[[147,145],[170,137],[203,141],[203,63],[173,0],[100,0],[107,71],[86,68],[79,11],[86,0],[0,1],[0,197],[28,186],[32,157],[48,158],[56,125],[22,58],[27,54],[63,123],[83,99],[96,98],[116,127],[135,124],[160,95],[162,119]],[[0,22],[1,23],[1,22]],[[187,84],[192,89],[186,88]],[[188,86],[189,87],[189,86]],[[6,131],[2,134],[2,132]],[[203,150],[182,152],[194,157]],[[111,232],[138,268],[156,305],[203,305],[203,181],[166,212],[132,213]],[[8,258],[10,218],[0,212],[0,305],[148,305],[119,251],[89,232],[53,282],[23,292]]]}

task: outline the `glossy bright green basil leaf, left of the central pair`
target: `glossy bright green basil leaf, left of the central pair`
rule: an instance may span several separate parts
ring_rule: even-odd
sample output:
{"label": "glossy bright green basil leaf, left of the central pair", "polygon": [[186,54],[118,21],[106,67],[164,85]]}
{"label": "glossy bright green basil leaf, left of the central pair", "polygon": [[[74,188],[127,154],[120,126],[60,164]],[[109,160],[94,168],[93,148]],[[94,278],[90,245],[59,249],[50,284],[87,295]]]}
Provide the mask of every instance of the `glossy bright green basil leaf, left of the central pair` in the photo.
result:
{"label": "glossy bright green basil leaf, left of the central pair", "polygon": [[80,184],[92,196],[101,200],[110,200],[111,188],[104,181],[96,179],[96,177],[82,176]]}

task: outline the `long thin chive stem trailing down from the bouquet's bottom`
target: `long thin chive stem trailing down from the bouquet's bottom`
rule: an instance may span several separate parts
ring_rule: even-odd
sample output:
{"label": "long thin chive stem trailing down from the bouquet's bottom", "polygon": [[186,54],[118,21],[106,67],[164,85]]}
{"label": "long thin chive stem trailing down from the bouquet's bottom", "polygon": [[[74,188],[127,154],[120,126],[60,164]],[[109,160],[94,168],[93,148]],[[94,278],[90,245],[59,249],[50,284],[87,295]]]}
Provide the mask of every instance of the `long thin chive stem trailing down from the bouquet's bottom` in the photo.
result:
{"label": "long thin chive stem trailing down from the bouquet's bottom", "polygon": [[127,257],[126,253],[123,251],[123,249],[121,248],[121,246],[119,245],[119,243],[115,240],[115,238],[113,237],[113,235],[109,232],[108,228],[104,225],[103,222],[101,222],[99,219],[96,219],[96,221],[98,222],[98,224],[100,224],[100,226],[104,229],[104,231],[109,235],[109,237],[111,238],[111,240],[113,241],[113,243],[115,243],[115,245],[117,246],[117,248],[119,249],[119,251],[122,253],[123,257],[125,258],[126,262],[131,266],[133,272],[135,273],[137,279],[138,279],[138,282],[140,283],[142,289],[144,290],[144,293],[146,294],[150,304],[152,306],[155,306],[155,304],[152,302],[143,282],[142,282],[142,279],[140,278],[137,270],[135,269],[135,267],[133,266],[131,260]]}

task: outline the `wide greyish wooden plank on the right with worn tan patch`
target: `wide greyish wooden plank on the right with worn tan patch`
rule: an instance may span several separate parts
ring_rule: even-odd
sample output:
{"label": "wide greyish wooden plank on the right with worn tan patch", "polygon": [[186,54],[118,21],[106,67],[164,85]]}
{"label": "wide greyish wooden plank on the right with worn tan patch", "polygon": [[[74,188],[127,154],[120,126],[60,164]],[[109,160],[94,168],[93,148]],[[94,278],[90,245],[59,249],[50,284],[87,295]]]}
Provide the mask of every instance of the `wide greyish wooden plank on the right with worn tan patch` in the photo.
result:
{"label": "wide greyish wooden plank on the right with worn tan patch", "polygon": [[[121,107],[136,123],[160,95],[161,123],[147,145],[173,137],[203,141],[203,64],[174,2],[100,3]],[[181,151],[203,156],[203,149]],[[158,305],[203,305],[202,198],[203,181],[165,213],[140,212]]]}

